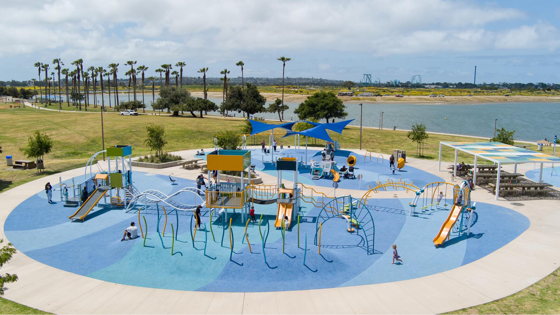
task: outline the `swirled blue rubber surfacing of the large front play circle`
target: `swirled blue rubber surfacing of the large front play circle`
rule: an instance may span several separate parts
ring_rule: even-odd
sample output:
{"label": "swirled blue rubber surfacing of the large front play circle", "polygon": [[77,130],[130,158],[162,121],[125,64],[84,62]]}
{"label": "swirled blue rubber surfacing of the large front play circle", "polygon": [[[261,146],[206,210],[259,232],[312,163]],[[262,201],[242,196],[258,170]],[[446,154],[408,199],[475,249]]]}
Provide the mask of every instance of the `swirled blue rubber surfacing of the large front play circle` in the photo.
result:
{"label": "swirled blue rubber surfacing of the large front play circle", "polygon": [[[375,168],[360,165],[360,160],[358,166],[375,171]],[[412,170],[410,173],[414,174]],[[366,174],[364,177],[367,179]],[[415,183],[423,180],[413,179]],[[133,180],[139,191],[157,189],[166,194],[195,186],[194,180],[178,178],[177,185],[171,185],[164,175],[141,172],[133,172]],[[342,180],[341,186],[344,181],[346,179]],[[348,233],[346,220],[335,217],[325,221],[321,228],[319,254],[314,237],[321,209],[302,202],[301,223],[292,224],[285,233],[283,244],[281,231],[274,228],[276,203],[255,204],[257,220],[260,214],[264,214],[260,231],[258,223],[249,223],[245,234],[245,221],[241,221],[239,210],[232,215],[230,210],[234,245],[231,253],[229,230],[223,229],[223,223],[217,221],[215,214],[212,224],[209,223],[209,209],[202,211],[202,223],[206,223],[207,230],[198,230],[193,242],[191,231],[194,234],[195,220],[191,211],[165,207],[167,225],[164,235],[165,213],[162,206],[165,205],[148,209],[139,205],[142,207],[140,223],[143,233],[147,228],[144,247],[142,238],[120,241],[131,221],[138,226],[138,207],[125,211],[122,207],[115,208],[101,202],[84,222],[71,222],[68,216],[76,208],[63,207],[57,193],[53,193],[55,203],[49,205],[44,192],[39,192],[22,201],[7,217],[4,233],[19,251],[46,265],[79,275],[162,289],[229,292],[304,290],[413,279],[478,260],[511,242],[529,227],[529,220],[516,211],[478,202],[478,217],[470,230],[472,234],[452,235],[442,247],[436,248],[432,239],[449,215],[449,206],[447,209],[433,207],[426,212],[417,210],[416,215],[408,216],[408,202],[412,201],[413,194],[410,198],[371,198],[367,208],[375,221],[375,253],[368,255],[365,249],[354,246],[360,243],[361,234]],[[361,198],[362,193],[358,194],[360,196],[355,197]],[[198,202],[194,194],[177,198],[186,204]],[[174,241],[171,223],[173,233],[176,233]],[[266,238],[264,251],[267,263],[264,261],[260,233]],[[307,244],[304,243],[305,235]],[[393,244],[398,245],[399,255],[404,261],[398,265],[391,265]]]}

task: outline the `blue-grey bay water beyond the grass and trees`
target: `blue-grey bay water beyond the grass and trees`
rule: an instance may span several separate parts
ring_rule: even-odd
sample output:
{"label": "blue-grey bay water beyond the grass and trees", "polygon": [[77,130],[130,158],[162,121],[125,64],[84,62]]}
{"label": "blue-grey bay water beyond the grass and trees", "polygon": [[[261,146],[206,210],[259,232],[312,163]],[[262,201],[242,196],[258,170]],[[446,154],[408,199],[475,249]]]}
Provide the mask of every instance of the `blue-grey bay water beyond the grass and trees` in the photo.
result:
{"label": "blue-grey bay water beyond the grass and trees", "polygon": [[[98,103],[101,97],[98,95]],[[53,96],[54,97],[54,96]],[[132,98],[132,95],[130,95]],[[64,96],[63,96],[64,98]],[[155,99],[159,96],[156,94]],[[142,94],[137,94],[142,100]],[[92,102],[92,96],[90,96]],[[151,109],[152,94],[144,94],[147,108]],[[209,98],[216,104],[222,99]],[[105,105],[109,104],[109,95],[104,95]],[[128,101],[128,94],[119,94],[119,101]],[[114,105],[114,94],[111,94]],[[296,120],[293,110],[298,103],[286,103],[290,106],[284,112],[284,120]],[[348,116],[345,119],[356,119],[351,126],[360,126],[360,105],[345,104]],[[560,133],[560,103],[490,103],[474,105],[433,105],[433,104],[402,104],[375,103],[363,104],[362,125],[379,127],[383,112],[383,128],[410,129],[413,124],[424,124],[427,131],[456,133],[458,135],[492,137],[494,119],[498,119],[497,128],[515,130],[516,140],[538,141],[554,138]],[[210,114],[219,114],[212,112]],[[241,115],[241,114],[238,114]],[[276,113],[258,113],[255,116],[267,119],[278,119]],[[447,118],[447,119],[445,119]],[[342,119],[335,119],[340,121]]]}

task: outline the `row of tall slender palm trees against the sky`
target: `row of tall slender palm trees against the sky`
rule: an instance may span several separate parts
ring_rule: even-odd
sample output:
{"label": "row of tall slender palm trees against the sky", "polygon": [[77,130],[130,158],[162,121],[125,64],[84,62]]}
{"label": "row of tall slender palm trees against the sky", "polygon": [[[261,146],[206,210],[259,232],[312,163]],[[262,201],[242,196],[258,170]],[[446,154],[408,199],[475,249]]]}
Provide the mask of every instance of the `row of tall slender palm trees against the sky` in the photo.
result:
{"label": "row of tall slender palm trees against the sky", "polygon": [[[280,57],[278,58],[279,61],[282,62],[282,105],[284,104],[284,70],[286,68],[286,62],[290,61],[291,58],[286,58],[286,57]],[[109,92],[109,107],[111,107],[111,76],[113,77],[113,88],[114,88],[114,104],[117,105],[119,104],[119,94],[118,94],[118,81],[117,81],[117,73],[118,73],[118,67],[119,67],[119,63],[110,63],[108,66],[109,70],[104,70],[103,67],[94,67],[94,66],[90,66],[89,68],[86,69],[86,72],[83,71],[83,60],[77,59],[76,61],[73,61],[71,64],[72,66],[75,66],[76,69],[71,71],[69,70],[69,68],[62,68],[61,66],[64,66],[64,63],[62,62],[62,59],[60,58],[55,58],[53,59],[52,64],[54,64],[54,70],[57,70],[58,72],[58,103],[59,103],[59,109],[62,109],[62,85],[60,84],[60,75],[64,75],[65,76],[65,82],[66,82],[66,100],[68,102],[68,106],[70,106],[69,104],[69,100],[72,100],[72,105],[79,107],[80,110],[82,110],[82,100],[84,101],[84,105],[85,105],[85,110],[87,111],[87,107],[91,106],[90,105],[90,89],[91,89],[91,84],[93,84],[93,90],[94,90],[94,95],[92,96],[92,100],[93,100],[93,105],[94,107],[97,107],[97,96],[96,96],[96,92],[97,92],[97,77],[99,77],[99,81],[100,81],[100,87],[101,87],[101,105],[104,106],[104,100],[103,100],[103,92],[104,92],[104,87],[103,87],[103,77],[107,77],[107,85],[108,85],[108,92]],[[133,92],[132,92],[132,96],[133,96],[133,100],[136,101],[136,89],[137,89],[137,75],[141,74],[141,82],[142,82],[142,103],[144,103],[144,81],[146,80],[146,71],[148,70],[149,67],[146,67],[144,65],[138,66],[136,67],[136,69],[134,68],[134,66],[136,66],[137,61],[127,61],[125,63],[125,65],[130,66],[130,70],[128,70],[127,72],[125,72],[125,76],[128,76],[128,100],[130,101],[130,88],[132,87]],[[242,61],[239,61],[235,64],[236,66],[240,66],[241,67],[241,88],[244,89],[245,87],[245,78],[244,78],[244,73],[243,73],[243,67],[245,66],[245,63]],[[44,80],[45,80],[45,98],[48,96],[48,101],[49,104],[51,104],[51,98],[50,98],[50,80],[53,80],[53,90],[55,88],[55,81],[54,81],[54,72],[50,73],[50,77],[49,77],[49,63],[41,63],[41,62],[36,62],[34,64],[34,66],[36,68],[38,68],[38,75],[39,75],[39,82],[41,81],[41,72],[44,72]],[[179,82],[180,82],[180,87],[181,89],[183,88],[183,67],[186,66],[185,62],[177,62],[175,63],[175,67],[179,67],[179,72],[178,71],[172,71],[172,64],[162,64],[161,68],[158,68],[155,70],[156,73],[160,74],[160,86],[162,85],[162,81],[164,79],[164,75],[165,75],[165,85],[170,85],[170,78],[171,76],[175,76],[175,86],[179,87]],[[90,74],[91,72],[91,74]],[[204,89],[204,99],[208,99],[208,91],[206,89],[206,73],[208,72],[208,67],[203,67],[200,70],[198,70],[197,72],[202,73],[202,81],[203,81],[203,89]],[[221,81],[223,81],[223,87],[222,87],[222,101],[225,101],[225,99],[227,98],[227,90],[228,90],[228,81],[230,81],[230,78],[227,77],[228,74],[230,74],[230,71],[228,71],[227,69],[224,69],[222,71],[220,71],[220,74],[223,75],[223,77],[220,78]],[[180,78],[180,81],[179,81]],[[68,89],[68,80],[71,80],[71,89]],[[155,76],[150,76],[147,77],[148,80],[150,80],[152,82],[152,102],[155,102],[155,81],[157,80],[157,77]],[[33,82],[33,86],[35,89],[35,79],[32,79]],[[81,95],[80,92],[82,91],[81,85],[83,85],[83,91],[87,91],[85,92],[84,95]],[[41,103],[43,103],[43,90],[41,89],[41,84],[39,84],[39,93],[41,96]],[[54,91],[54,94],[56,94],[56,91]],[[56,100],[56,96],[55,96],[55,100]],[[283,116],[283,113],[282,113]],[[283,118],[283,117],[282,117]]]}

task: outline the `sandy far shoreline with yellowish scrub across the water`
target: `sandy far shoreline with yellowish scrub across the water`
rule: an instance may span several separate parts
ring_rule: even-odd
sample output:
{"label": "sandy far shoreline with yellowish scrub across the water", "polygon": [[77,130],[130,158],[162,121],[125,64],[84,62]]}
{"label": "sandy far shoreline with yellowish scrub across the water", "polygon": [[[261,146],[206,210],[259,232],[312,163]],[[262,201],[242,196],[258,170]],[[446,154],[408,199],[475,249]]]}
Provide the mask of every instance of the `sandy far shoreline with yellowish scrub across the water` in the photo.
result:
{"label": "sandy far shoreline with yellowish scrub across the water", "polygon": [[[202,92],[190,92],[191,95],[203,97]],[[274,101],[276,98],[282,99],[281,93],[261,93],[267,101]],[[309,95],[284,94],[284,103],[301,103]],[[221,92],[208,92],[209,98],[221,99]],[[487,103],[560,103],[560,96],[445,96],[431,98],[430,96],[395,96],[382,97],[360,97],[352,100],[350,96],[341,96],[339,99],[344,103],[363,103],[363,104],[432,104],[432,105],[468,105],[468,104],[487,104]]]}

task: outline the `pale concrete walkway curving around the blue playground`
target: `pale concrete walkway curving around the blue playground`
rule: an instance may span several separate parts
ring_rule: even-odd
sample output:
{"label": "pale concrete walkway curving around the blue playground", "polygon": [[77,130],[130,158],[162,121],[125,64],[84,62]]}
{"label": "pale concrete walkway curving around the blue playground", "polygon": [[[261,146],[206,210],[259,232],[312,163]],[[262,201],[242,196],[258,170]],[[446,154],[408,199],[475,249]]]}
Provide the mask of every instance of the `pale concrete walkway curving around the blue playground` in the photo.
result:
{"label": "pale concrete walkway curving around the blue playground", "polygon": [[[194,151],[173,153],[186,155]],[[356,152],[363,154],[365,150]],[[437,161],[408,158],[407,164],[449,178],[446,172],[437,171]],[[509,170],[507,166],[504,169]],[[520,165],[518,172],[529,169],[529,165]],[[190,179],[199,174],[195,170],[178,167],[134,170]],[[69,170],[0,194],[0,237],[5,239],[3,226],[8,214],[21,201],[41,191],[45,182],[58,183],[59,176],[65,180],[83,173],[83,168]],[[265,184],[276,184],[276,178],[260,173]],[[332,194],[332,188],[316,189]],[[384,193],[387,196],[397,193],[399,197],[410,197],[402,191],[380,193],[375,197],[385,197]],[[531,226],[511,243],[480,260],[417,279],[346,288],[263,293],[176,291],[92,279],[44,265],[18,252],[0,270],[13,272],[19,277],[14,284],[6,285],[4,297],[60,314],[424,314],[453,311],[506,297],[558,267],[559,201],[524,201],[525,206],[516,207],[504,200],[494,200],[494,195],[484,189],[475,189],[472,199],[519,211],[530,219]]]}

